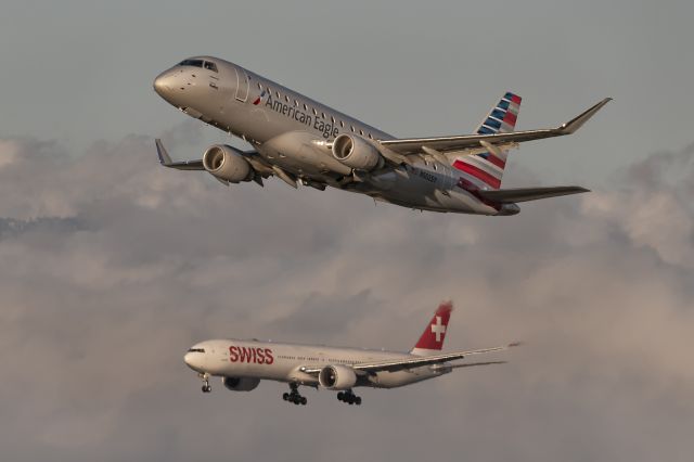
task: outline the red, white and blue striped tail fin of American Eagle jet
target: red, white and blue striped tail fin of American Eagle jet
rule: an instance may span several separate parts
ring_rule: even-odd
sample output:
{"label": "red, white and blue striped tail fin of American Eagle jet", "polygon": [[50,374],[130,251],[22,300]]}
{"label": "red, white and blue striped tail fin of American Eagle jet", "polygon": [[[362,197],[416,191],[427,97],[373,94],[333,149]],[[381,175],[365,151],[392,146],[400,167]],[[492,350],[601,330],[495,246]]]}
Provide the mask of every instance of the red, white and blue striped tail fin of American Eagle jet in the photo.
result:
{"label": "red, white and blue striped tail fin of American Eagle jet", "polygon": [[[493,134],[513,131],[520,111],[520,97],[506,92],[499,104],[497,104],[487,118],[477,128],[478,134]],[[501,187],[501,177],[506,166],[506,151],[501,151],[501,158],[494,154],[485,152],[475,155],[463,156],[455,159],[453,167],[465,174],[465,179],[471,180],[472,184],[477,188],[493,188],[498,190]]]}

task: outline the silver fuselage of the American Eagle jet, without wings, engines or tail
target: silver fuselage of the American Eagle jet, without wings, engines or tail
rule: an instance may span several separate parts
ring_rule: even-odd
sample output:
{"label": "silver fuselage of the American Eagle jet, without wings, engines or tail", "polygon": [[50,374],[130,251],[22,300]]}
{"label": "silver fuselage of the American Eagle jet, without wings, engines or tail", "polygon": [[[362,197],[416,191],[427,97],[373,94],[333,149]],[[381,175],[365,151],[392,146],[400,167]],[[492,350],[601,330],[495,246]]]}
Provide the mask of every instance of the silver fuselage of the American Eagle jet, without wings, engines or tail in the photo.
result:
{"label": "silver fuselage of the American Eagle jet, without wings, engines or tail", "polygon": [[340,133],[368,140],[394,137],[354,117],[254,74],[239,65],[200,56],[215,68],[176,65],[154,82],[156,92],[188,115],[250,143],[269,165],[311,182],[358,192],[393,204],[436,211],[514,215],[515,204],[480,201],[459,185],[450,165],[414,156],[411,165],[388,166],[363,181],[345,182],[351,169],[331,154]]}

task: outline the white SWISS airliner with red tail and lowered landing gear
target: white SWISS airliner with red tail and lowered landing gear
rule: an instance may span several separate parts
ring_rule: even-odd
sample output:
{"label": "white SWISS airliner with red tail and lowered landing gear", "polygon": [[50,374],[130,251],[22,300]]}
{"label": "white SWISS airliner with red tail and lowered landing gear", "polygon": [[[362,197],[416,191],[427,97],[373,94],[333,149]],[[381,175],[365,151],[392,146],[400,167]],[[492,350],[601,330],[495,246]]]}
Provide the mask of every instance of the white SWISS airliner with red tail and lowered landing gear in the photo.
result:
{"label": "white SWISS airliner with red tail and lowered landing gear", "polygon": [[257,339],[214,339],[193,345],[183,361],[203,380],[203,393],[209,393],[210,376],[221,376],[224,387],[250,392],[261,380],[290,384],[282,398],[306,405],[299,385],[337,390],[337,399],[361,405],[352,388],[367,386],[395,388],[438,377],[458,368],[501,364],[505,361],[451,363],[468,356],[501,351],[505,346],[442,354],[452,305],[441,304],[409,352],[362,348],[335,348]]}

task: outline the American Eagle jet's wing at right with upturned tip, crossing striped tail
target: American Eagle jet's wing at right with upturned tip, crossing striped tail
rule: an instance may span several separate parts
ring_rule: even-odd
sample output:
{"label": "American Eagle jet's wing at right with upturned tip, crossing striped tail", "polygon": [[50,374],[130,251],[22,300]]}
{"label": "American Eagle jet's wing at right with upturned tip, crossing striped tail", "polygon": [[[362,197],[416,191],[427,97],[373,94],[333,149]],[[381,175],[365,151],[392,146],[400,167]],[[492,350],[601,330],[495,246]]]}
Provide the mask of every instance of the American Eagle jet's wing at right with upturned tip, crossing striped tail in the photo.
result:
{"label": "American Eagle jet's wing at right with upturned tip, crossing striped tail", "polygon": [[612,101],[612,98],[605,98],[600,103],[588,108],[571,120],[562,124],[556,128],[545,128],[540,130],[512,131],[496,134],[463,134],[457,137],[440,138],[407,138],[399,140],[382,140],[381,144],[389,147],[398,154],[415,154],[423,147],[436,150],[438,152],[462,151],[470,147],[484,147],[484,143],[492,145],[506,143],[522,143],[524,141],[542,140],[544,138],[563,137],[571,134],[578,130],[588,119],[590,119],[605,104]]}

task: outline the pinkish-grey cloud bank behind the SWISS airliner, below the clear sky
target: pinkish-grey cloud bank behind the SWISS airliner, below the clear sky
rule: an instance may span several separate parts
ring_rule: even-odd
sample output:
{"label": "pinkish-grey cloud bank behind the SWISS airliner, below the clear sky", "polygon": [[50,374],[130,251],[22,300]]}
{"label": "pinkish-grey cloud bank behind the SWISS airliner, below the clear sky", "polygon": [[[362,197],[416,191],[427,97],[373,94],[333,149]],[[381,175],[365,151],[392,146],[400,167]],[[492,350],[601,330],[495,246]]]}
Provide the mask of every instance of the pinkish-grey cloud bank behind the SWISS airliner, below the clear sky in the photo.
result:
{"label": "pinkish-grey cloud bank behind the SWISS airliner, below the clear sky", "polygon": [[[192,126],[165,133],[175,150]],[[180,133],[179,133],[180,134]],[[177,138],[178,137],[178,138]],[[280,181],[223,188],[152,140],[0,141],[8,460],[689,460],[692,147],[516,217],[421,214]],[[522,180],[522,179],[520,179]],[[409,349],[523,339],[364,406],[203,396],[182,352],[244,336]]]}

